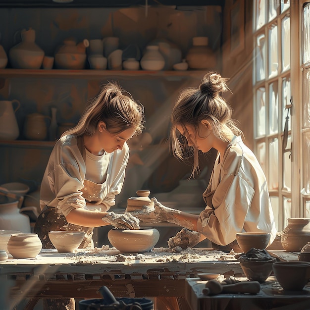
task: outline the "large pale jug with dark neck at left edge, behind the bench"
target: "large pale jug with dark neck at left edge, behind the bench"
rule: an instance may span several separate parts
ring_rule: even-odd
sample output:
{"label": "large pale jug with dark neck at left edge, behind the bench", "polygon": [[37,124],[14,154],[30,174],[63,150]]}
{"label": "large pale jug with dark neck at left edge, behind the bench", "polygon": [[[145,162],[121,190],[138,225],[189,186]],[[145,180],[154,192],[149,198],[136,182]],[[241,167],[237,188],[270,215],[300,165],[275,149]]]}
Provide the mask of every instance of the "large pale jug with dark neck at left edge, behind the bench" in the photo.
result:
{"label": "large pale jug with dark neck at left edge, behind the bench", "polygon": [[31,231],[29,217],[20,213],[18,200],[0,195],[0,228],[23,233]]}

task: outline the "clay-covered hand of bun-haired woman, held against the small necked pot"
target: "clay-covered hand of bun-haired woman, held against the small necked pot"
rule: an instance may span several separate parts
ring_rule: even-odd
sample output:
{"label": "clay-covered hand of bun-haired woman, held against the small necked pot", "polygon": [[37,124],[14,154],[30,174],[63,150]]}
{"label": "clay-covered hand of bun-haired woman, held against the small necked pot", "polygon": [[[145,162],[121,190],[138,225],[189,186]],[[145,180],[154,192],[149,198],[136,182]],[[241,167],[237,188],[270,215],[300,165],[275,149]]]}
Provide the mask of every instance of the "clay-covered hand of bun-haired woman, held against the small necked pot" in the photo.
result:
{"label": "clay-covered hand of bun-haired woman, held against the small necked pot", "polygon": [[145,223],[166,222],[168,211],[171,209],[161,205],[156,198],[151,200],[154,202],[154,207],[142,206],[141,209],[130,211],[129,213]]}

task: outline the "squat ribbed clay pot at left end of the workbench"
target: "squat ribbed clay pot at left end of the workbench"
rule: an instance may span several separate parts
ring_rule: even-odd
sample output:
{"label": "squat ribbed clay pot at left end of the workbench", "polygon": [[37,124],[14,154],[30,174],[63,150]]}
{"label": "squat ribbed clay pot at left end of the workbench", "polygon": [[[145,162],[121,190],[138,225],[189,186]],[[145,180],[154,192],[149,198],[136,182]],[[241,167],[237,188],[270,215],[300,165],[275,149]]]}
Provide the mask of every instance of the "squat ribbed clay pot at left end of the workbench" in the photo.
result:
{"label": "squat ribbed clay pot at left end of the workbench", "polygon": [[37,234],[12,234],[7,243],[7,250],[13,258],[35,258],[42,249]]}

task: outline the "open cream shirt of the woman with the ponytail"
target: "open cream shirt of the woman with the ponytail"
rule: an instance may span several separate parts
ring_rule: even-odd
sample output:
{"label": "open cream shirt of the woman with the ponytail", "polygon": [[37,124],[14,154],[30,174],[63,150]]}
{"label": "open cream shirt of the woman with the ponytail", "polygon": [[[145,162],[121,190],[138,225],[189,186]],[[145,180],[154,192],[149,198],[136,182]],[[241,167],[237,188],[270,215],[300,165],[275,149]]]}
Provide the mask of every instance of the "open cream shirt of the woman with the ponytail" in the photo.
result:
{"label": "open cream shirt of the woman with the ponytail", "polygon": [[[111,153],[107,168],[103,197],[95,205],[103,204],[102,211],[115,205],[115,195],[119,194],[129,158],[129,148]],[[57,207],[64,216],[72,209],[85,208],[86,201],[81,190],[84,188],[86,166],[74,135],[60,138],[51,153],[41,184],[40,207]],[[105,207],[105,208],[104,208]]]}

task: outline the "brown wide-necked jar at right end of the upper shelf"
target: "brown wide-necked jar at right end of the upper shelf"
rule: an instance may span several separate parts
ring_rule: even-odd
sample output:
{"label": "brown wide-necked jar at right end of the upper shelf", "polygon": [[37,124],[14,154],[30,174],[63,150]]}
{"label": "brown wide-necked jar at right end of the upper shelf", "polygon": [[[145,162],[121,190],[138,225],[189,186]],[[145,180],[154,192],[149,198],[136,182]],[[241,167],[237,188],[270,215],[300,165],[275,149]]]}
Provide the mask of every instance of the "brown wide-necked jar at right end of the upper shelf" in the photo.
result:
{"label": "brown wide-necked jar at right end of the upper shelf", "polygon": [[213,69],[216,67],[216,56],[208,46],[207,37],[194,37],[193,47],[186,55],[191,69]]}

